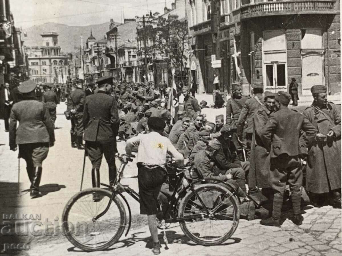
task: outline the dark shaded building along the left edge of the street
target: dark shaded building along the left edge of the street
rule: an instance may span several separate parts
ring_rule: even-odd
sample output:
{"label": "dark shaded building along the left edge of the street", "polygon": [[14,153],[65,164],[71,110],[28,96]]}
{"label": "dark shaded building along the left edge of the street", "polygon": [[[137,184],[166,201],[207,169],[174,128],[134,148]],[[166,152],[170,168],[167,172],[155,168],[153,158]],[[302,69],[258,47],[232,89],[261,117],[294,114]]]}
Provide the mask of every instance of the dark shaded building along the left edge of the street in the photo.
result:
{"label": "dark shaded building along the left edge of the street", "polygon": [[21,82],[27,77],[24,41],[9,0],[0,0],[0,24],[0,84]]}

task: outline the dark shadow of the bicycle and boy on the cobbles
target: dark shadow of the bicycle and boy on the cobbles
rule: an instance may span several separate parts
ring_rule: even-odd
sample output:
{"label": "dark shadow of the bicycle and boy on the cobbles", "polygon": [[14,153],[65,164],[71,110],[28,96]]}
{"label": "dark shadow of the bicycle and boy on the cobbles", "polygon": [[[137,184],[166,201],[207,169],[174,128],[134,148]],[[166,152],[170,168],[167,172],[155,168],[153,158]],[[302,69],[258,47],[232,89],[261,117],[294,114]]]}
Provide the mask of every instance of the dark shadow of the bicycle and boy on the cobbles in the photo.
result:
{"label": "dark shadow of the bicycle and boy on the cobbles", "polygon": [[[144,233],[146,234],[147,237],[141,237],[141,234],[144,234]],[[158,234],[158,238],[159,238],[161,246],[165,247],[165,249],[168,250],[163,240],[163,235],[164,235],[163,231],[161,231],[160,234]],[[166,231],[166,236],[168,238],[169,245],[179,244],[179,243],[190,245],[190,246],[197,245],[195,242],[191,241],[187,236],[185,236],[185,234],[178,234],[176,231],[173,231],[173,230]],[[232,240],[232,242],[225,242],[220,245],[230,245],[230,244],[239,243],[241,241],[240,238],[229,238],[227,241],[229,240]],[[141,242],[141,241],[146,243],[145,248],[149,248],[149,249],[153,248],[153,241],[152,241],[150,234],[148,232],[137,232],[137,233],[133,233],[130,238],[120,240],[116,244],[111,246],[110,248],[105,249],[103,251],[113,251],[118,248],[130,247],[136,244],[137,242]],[[83,252],[75,246],[70,247],[67,250],[68,252]]]}

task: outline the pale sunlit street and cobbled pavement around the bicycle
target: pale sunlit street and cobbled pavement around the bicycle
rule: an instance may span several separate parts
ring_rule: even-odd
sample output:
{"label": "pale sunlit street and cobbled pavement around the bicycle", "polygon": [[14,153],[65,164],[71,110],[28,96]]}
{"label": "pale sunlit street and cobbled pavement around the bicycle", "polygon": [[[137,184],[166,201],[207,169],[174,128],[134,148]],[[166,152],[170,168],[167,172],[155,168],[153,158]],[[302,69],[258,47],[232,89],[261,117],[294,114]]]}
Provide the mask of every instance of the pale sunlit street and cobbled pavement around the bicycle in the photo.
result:
{"label": "pale sunlit street and cobbled pavement around the bicycle", "polygon": [[[8,133],[0,125],[0,182],[2,213],[41,214],[41,219],[61,220],[66,202],[80,190],[82,163],[84,151],[70,146],[70,122],[63,112],[66,105],[62,102],[57,107],[55,130],[56,143],[50,148],[48,158],[43,162],[43,174],[40,190],[44,196],[31,199],[30,183],[26,173],[25,161],[20,160],[20,193],[17,191],[18,160],[17,152],[9,150]],[[206,109],[207,119],[213,121],[215,115],[224,114],[225,109]],[[214,112],[214,113],[213,113]],[[216,113],[217,112],[217,113]],[[118,143],[120,153],[124,152],[124,142]],[[91,187],[91,165],[86,159],[83,188]],[[136,174],[135,162],[125,171],[126,175]],[[101,181],[107,183],[107,166],[102,162]],[[129,184],[137,190],[136,179],[124,179],[123,184]],[[127,237],[122,237],[120,243],[105,252],[87,253],[87,255],[103,255],[123,253],[123,255],[150,255],[150,249],[145,248],[149,241],[149,231],[144,217],[139,215],[139,204],[127,197],[133,214],[133,226]],[[174,224],[167,230],[169,250],[162,250],[165,255],[340,255],[341,254],[341,210],[332,207],[304,209],[304,222],[295,226],[287,220],[281,226],[265,227],[258,219],[253,221],[240,220],[237,231],[231,240],[220,246],[203,247],[189,242],[179,226]],[[1,216],[2,218],[2,216]],[[36,226],[39,229],[39,226]],[[162,233],[160,233],[162,238]],[[53,237],[21,237],[29,241],[28,255],[83,255],[60,234]],[[147,244],[147,247],[149,244]],[[116,248],[114,250],[114,248]]]}

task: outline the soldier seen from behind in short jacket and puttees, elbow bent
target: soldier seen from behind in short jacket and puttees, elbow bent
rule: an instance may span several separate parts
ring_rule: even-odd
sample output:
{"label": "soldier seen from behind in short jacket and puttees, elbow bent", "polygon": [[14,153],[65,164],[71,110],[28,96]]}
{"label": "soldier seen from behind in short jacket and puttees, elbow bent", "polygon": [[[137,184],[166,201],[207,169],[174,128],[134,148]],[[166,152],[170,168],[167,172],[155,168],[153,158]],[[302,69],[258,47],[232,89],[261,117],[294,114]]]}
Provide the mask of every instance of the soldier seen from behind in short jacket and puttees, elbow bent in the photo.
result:
{"label": "soldier seen from behind in short jacket and puttees, elbow bent", "polygon": [[298,157],[300,132],[303,130],[308,142],[316,137],[316,128],[310,121],[295,110],[288,109],[291,95],[279,91],[275,96],[278,111],[272,113],[261,132],[261,140],[271,155],[269,182],[274,191],[272,217],[260,221],[261,225],[280,227],[281,207],[286,183],[290,185],[295,225],[303,223],[301,215],[301,190],[303,172]]}

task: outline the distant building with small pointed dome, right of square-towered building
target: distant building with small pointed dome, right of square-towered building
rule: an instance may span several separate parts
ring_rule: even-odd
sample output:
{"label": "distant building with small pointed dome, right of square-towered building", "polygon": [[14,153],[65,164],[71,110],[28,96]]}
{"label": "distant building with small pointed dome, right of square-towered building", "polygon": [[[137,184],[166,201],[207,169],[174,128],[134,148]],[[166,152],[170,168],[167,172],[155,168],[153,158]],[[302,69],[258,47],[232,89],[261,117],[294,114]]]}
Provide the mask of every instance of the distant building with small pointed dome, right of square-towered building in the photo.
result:
{"label": "distant building with small pointed dome, right of square-towered building", "polygon": [[96,41],[92,30],[90,30],[90,36],[86,41],[86,49],[84,49],[84,72],[86,80],[91,77],[106,75],[105,67],[108,63],[107,58],[104,57],[106,46],[107,39],[104,37]]}

